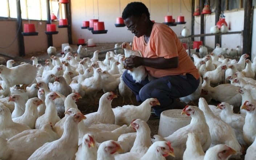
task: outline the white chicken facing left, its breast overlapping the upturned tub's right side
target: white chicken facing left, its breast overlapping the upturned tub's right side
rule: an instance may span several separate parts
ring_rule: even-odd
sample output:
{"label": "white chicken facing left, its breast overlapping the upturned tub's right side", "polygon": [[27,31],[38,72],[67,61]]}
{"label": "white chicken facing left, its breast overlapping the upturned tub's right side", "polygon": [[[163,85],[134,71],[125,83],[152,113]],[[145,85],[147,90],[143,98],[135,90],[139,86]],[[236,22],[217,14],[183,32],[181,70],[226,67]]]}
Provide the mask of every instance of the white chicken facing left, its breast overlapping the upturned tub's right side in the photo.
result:
{"label": "white chicken facing left, its breast overlapping the upturned tub's right side", "polygon": [[175,159],[182,159],[183,153],[186,148],[187,134],[195,133],[200,139],[203,151],[206,151],[211,144],[211,135],[209,127],[207,126],[204,113],[195,106],[186,106],[181,114],[191,116],[191,122],[185,127],[175,131],[172,135],[161,138],[158,135],[154,135],[155,140],[166,140],[172,142],[172,147],[175,150]]}

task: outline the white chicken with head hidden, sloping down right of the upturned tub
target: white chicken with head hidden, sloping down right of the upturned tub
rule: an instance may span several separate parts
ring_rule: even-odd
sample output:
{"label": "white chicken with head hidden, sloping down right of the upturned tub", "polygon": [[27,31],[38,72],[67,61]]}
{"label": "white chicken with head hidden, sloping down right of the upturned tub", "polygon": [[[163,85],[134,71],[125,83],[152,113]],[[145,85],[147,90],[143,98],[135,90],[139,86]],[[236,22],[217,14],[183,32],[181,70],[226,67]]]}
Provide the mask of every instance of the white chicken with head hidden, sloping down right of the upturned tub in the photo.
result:
{"label": "white chicken with head hidden, sloping down right of the upturned tub", "polygon": [[241,145],[236,140],[235,132],[231,126],[212,113],[204,98],[199,98],[198,106],[204,112],[210,128],[211,145],[226,144],[235,149],[237,156],[241,155]]}

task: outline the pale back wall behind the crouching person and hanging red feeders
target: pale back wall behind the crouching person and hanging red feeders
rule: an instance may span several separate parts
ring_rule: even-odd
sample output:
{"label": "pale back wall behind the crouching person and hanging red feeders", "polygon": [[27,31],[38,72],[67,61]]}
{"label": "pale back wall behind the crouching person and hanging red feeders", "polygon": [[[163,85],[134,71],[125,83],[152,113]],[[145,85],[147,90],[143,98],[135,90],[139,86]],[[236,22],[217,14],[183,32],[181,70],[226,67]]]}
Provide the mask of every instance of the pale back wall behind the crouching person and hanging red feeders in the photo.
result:
{"label": "pale back wall behind the crouching person and hanging red feeders", "polygon": [[[134,0],[121,0],[121,14],[126,5]],[[173,5],[171,3],[173,1]],[[97,0],[94,0],[94,17],[93,17],[93,0],[71,0],[72,6],[72,38],[73,43],[76,44],[79,38],[93,38],[96,43],[102,42],[125,42],[132,41],[133,34],[127,30],[126,27],[116,28],[116,18],[121,17],[119,13],[119,0],[98,0],[99,2],[99,21],[104,21],[105,29],[108,30],[106,34],[92,34],[88,29],[81,29],[82,21],[89,21],[90,19],[98,19]],[[151,0],[149,7],[149,0],[141,0],[147,8],[151,11],[151,20],[155,22],[164,22],[164,16],[167,15],[168,5],[167,0]],[[183,26],[191,28],[191,12],[190,0],[183,1],[169,0],[169,15],[172,15],[177,21],[177,16],[180,15],[180,2],[182,2],[182,16],[185,16],[185,25],[172,26],[171,28],[179,36]],[[172,11],[173,8],[173,11]],[[86,16],[85,16],[86,15]]]}

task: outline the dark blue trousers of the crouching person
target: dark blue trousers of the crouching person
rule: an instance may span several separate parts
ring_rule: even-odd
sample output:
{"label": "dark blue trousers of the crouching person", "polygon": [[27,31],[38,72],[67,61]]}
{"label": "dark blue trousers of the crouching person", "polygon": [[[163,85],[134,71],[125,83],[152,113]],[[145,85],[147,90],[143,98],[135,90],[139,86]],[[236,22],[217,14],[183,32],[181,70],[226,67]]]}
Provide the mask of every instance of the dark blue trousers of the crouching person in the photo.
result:
{"label": "dark blue trousers of the crouching person", "polygon": [[160,106],[154,106],[154,112],[160,116],[162,111],[170,109],[182,109],[184,103],[175,99],[192,94],[199,86],[200,79],[195,79],[191,74],[186,75],[166,75],[149,82],[147,77],[140,83],[135,83],[133,77],[123,73],[123,81],[136,95],[138,102],[143,102],[148,98],[157,98]]}

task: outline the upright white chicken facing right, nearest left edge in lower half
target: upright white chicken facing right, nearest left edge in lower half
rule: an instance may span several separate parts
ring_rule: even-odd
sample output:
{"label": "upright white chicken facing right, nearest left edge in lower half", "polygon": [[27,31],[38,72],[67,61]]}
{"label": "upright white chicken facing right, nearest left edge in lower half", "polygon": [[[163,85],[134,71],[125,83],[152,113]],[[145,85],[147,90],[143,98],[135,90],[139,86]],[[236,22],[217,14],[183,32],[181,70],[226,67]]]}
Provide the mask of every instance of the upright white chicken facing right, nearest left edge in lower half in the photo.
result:
{"label": "upright white chicken facing right, nearest left edge in lower half", "polygon": [[36,119],[38,118],[37,106],[42,104],[42,100],[39,98],[31,98],[26,103],[25,112],[22,116],[13,118],[13,122],[23,123],[34,129]]}

